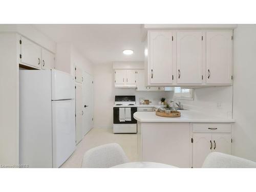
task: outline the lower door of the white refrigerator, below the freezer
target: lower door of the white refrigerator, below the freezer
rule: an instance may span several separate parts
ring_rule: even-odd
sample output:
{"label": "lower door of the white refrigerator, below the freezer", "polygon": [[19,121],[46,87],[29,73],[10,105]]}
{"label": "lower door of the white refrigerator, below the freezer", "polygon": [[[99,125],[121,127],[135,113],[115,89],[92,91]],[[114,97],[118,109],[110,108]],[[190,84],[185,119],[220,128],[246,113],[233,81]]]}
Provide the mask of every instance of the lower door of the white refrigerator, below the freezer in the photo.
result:
{"label": "lower door of the white refrigerator, below the freezer", "polygon": [[63,164],[75,150],[75,100],[52,101],[53,167]]}

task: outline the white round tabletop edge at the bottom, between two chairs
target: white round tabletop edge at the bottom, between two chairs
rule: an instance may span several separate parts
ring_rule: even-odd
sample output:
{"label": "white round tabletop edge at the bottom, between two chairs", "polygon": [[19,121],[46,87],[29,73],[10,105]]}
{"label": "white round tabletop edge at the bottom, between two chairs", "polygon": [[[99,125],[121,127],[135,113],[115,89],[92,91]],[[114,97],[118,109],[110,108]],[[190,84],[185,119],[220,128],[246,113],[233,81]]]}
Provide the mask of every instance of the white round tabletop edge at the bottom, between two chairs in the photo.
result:
{"label": "white round tabletop edge at the bottom, between two chairs", "polygon": [[113,166],[111,168],[178,168],[176,166],[155,162],[131,162]]}

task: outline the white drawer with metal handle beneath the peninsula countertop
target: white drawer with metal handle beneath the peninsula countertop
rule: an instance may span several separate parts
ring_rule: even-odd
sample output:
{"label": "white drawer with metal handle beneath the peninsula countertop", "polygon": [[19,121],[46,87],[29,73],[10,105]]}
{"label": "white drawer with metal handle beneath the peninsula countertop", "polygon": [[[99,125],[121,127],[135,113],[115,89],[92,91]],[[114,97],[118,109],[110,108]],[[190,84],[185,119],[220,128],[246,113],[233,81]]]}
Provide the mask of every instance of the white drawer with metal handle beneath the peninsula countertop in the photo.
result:
{"label": "white drawer with metal handle beneath the peninsula countertop", "polygon": [[230,123],[192,123],[194,133],[231,133]]}

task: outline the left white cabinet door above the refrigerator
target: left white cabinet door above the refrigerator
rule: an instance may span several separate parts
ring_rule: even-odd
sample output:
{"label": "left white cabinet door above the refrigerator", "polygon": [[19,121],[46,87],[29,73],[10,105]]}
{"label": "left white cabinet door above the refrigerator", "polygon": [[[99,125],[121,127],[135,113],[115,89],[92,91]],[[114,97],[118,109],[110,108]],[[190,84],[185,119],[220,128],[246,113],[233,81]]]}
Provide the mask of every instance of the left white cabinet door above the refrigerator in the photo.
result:
{"label": "left white cabinet door above the refrigerator", "polygon": [[41,69],[41,47],[25,37],[21,37],[20,62]]}

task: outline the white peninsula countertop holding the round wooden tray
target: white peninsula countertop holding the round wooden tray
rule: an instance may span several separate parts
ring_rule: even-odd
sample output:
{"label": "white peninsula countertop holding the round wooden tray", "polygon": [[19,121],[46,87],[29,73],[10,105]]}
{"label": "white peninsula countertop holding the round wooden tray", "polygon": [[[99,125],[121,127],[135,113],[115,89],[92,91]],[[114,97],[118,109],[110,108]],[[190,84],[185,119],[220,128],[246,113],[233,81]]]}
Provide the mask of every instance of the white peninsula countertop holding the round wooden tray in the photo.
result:
{"label": "white peninsula countertop holding the round wooden tray", "polygon": [[181,110],[180,117],[160,117],[156,112],[136,112],[134,118],[140,122],[235,122],[234,119],[227,119],[207,115],[197,111]]}

